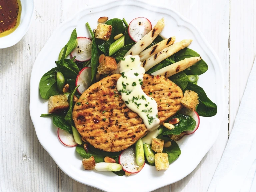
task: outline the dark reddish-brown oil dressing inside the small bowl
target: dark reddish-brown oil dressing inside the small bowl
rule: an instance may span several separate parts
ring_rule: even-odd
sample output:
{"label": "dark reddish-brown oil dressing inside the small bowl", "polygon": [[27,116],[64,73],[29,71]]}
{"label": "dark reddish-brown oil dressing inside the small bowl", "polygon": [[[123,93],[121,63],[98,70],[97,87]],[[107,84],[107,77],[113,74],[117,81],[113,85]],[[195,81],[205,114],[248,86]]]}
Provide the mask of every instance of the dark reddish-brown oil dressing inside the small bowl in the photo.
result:
{"label": "dark reddish-brown oil dressing inside the small bowl", "polygon": [[20,0],[0,0],[0,37],[9,35],[20,24]]}

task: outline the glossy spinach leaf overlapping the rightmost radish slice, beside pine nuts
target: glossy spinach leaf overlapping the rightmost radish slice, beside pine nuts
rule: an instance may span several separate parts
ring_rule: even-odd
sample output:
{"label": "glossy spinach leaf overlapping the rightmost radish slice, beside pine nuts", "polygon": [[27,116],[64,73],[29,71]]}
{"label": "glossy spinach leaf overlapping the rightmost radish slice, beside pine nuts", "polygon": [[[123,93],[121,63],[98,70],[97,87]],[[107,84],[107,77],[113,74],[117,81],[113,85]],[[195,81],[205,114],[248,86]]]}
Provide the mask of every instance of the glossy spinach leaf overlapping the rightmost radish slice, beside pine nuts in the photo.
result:
{"label": "glossy spinach leaf overlapping the rightmost radish slice, beside pine nuts", "polygon": [[[185,116],[182,114],[176,115],[175,117],[171,118],[178,118],[180,121],[179,123],[174,125],[174,128],[169,130],[165,128],[163,125],[160,127],[163,129],[162,134],[163,135],[179,135],[183,131],[192,131],[195,129],[196,126],[196,121],[190,117],[190,116]],[[168,120],[167,120],[168,122]]]}

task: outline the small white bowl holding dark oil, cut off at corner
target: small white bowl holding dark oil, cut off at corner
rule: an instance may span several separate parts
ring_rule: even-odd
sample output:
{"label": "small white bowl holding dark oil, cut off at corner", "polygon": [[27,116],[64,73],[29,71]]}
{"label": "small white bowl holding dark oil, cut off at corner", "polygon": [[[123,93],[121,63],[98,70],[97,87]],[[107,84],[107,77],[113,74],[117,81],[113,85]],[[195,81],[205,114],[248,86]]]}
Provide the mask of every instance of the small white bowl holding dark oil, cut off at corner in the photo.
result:
{"label": "small white bowl holding dark oil, cut off at corner", "polygon": [[18,43],[27,33],[35,9],[34,0],[21,0],[21,18],[18,28],[11,34],[0,37],[0,49],[11,47]]}

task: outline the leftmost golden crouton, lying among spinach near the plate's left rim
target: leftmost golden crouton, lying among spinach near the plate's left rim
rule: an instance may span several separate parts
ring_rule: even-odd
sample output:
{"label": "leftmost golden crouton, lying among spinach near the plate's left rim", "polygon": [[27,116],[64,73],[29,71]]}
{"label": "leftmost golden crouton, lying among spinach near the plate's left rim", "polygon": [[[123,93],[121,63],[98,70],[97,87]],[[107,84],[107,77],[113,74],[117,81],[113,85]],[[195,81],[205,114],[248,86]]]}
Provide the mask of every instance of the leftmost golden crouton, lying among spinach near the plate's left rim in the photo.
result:
{"label": "leftmost golden crouton, lying among spinach near the plate's left rim", "polygon": [[49,113],[59,113],[69,108],[66,95],[54,95],[49,98]]}

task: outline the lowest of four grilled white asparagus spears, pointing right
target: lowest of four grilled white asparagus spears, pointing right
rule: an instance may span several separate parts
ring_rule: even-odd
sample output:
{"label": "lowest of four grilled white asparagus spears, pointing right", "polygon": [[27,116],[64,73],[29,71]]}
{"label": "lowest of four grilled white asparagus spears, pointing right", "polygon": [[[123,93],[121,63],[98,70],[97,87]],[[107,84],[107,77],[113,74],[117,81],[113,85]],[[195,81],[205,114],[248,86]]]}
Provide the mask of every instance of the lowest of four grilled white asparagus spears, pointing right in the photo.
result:
{"label": "lowest of four grilled white asparagus spears, pointing right", "polygon": [[186,58],[184,60],[181,60],[177,63],[173,63],[167,67],[164,67],[162,69],[159,69],[158,71],[155,71],[154,73],[151,73],[151,75],[162,75],[165,77],[170,77],[180,71],[183,71],[189,67],[191,67],[192,65],[194,65],[195,63],[197,63],[198,61],[201,60],[201,57],[190,57],[190,58]]}

